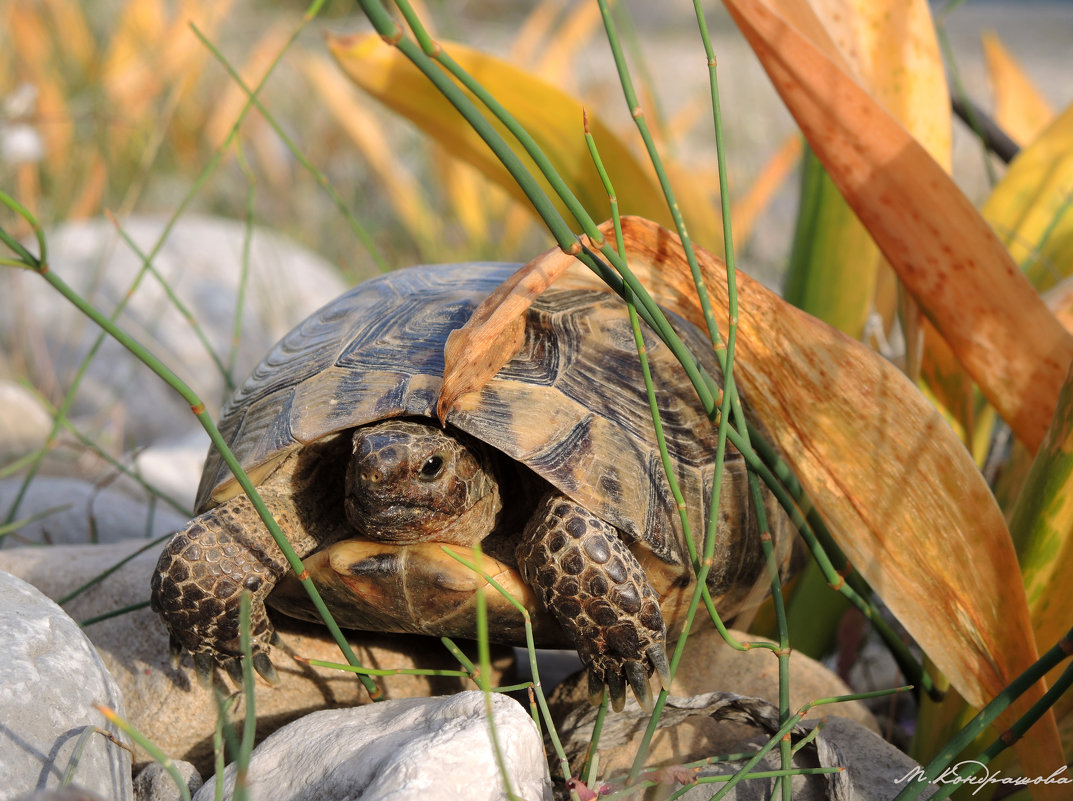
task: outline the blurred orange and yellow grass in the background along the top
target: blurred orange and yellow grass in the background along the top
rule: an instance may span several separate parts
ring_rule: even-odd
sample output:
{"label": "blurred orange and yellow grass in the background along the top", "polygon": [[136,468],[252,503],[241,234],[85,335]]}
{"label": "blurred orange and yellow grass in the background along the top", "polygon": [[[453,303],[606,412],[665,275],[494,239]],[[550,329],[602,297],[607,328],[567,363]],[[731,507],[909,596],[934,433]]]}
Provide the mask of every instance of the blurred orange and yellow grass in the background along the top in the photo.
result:
{"label": "blurred orange and yellow grass in the background along the top", "polygon": [[[645,2],[627,6],[641,32],[630,36],[631,57],[663,148],[688,164],[695,180],[714,186],[707,74],[691,15]],[[46,225],[105,210],[120,219],[174,211],[245,102],[189,23],[253,84],[303,13],[298,3],[249,0],[4,0],[0,183]],[[710,15],[730,182],[740,198],[794,127],[725,13],[715,8]],[[567,89],[635,142],[593,3],[433,2],[423,17],[432,20],[437,35],[509,58]],[[985,107],[980,35],[988,29],[1000,33],[1056,106],[1068,102],[1070,4],[966,3],[945,17],[945,27],[966,88]],[[526,210],[453,163],[410,123],[347,81],[318,79],[335,69],[327,61],[325,31],[364,30],[367,23],[352,3],[328,3],[288,49],[263,101],[371,232],[385,262],[516,261],[547,247],[548,238]],[[964,130],[955,139],[954,175],[974,199],[986,194],[980,148]],[[349,280],[376,271],[351,225],[256,110],[189,208],[240,219],[250,180],[256,183],[259,224],[320,252]],[[752,235],[738,242],[743,266],[768,284],[778,284],[788,258],[794,183],[791,174],[765,204]]]}

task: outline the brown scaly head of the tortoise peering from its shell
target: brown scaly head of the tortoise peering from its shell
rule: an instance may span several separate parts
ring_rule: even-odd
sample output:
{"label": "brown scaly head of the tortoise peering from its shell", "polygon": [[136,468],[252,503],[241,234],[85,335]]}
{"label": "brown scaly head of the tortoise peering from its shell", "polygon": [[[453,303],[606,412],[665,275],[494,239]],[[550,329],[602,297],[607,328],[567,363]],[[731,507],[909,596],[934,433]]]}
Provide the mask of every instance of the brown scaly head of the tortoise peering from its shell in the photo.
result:
{"label": "brown scaly head of the tortoise peering from its shell", "polygon": [[483,446],[392,419],[354,430],[346,508],[370,539],[472,545],[491,532],[502,503]]}

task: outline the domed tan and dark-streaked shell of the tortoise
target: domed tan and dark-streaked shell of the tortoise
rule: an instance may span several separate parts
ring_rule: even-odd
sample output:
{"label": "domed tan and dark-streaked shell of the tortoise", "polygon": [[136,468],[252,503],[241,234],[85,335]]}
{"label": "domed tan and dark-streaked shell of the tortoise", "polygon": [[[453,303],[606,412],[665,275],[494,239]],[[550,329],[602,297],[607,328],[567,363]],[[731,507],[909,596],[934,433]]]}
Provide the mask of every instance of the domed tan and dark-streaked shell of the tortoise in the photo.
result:
{"label": "domed tan and dark-streaked shell of the tortoise", "polygon": [[[286,335],[220,421],[254,484],[294,449],[335,432],[396,416],[435,419],[447,335],[516,268],[470,263],[391,272],[355,286]],[[719,376],[707,338],[668,317],[701,366]],[[671,461],[691,529],[700,533],[716,431],[670,350],[647,330],[645,345]],[[525,464],[661,560],[686,561],[633,330],[618,296],[554,285],[529,309],[520,352],[483,389],[464,396],[445,422]],[[731,448],[727,455],[740,458]],[[197,513],[238,491],[212,448]]]}

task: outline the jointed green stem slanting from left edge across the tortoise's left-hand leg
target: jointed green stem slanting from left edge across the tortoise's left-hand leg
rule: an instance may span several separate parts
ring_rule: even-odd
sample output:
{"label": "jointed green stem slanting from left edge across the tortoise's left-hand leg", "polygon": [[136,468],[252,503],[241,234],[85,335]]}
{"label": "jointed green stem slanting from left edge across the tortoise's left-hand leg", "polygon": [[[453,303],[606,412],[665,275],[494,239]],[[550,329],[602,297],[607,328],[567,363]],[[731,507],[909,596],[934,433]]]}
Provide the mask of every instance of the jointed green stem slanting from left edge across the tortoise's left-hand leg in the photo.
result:
{"label": "jointed green stem slanting from left edge across the tortoise's left-hand leg", "polygon": [[[3,203],[9,208],[14,209],[17,207],[21,209],[21,206],[15,204],[15,202],[3,192],[0,192],[0,203]],[[23,209],[23,212],[25,214],[26,221],[30,224],[30,226],[34,229],[38,229],[40,225],[38,221],[33,218],[33,216],[30,214],[30,212],[27,211],[26,209]],[[2,231],[2,228],[0,228],[0,231]],[[5,240],[6,238],[10,238],[6,236],[6,232],[4,232],[4,235],[5,235]],[[350,648],[350,643],[348,643],[347,639],[342,636],[342,632],[339,629],[339,626],[336,624],[335,620],[332,618],[330,612],[328,612],[327,607],[324,605],[324,602],[321,599],[321,595],[317,591],[317,588],[313,585],[313,582],[309,579],[308,576],[304,576],[305,568],[302,564],[302,560],[294,552],[294,549],[291,547],[291,544],[283,535],[283,532],[280,530],[279,525],[276,523],[276,520],[273,518],[271,513],[268,510],[268,507],[265,506],[264,501],[258,493],[256,488],[253,486],[253,483],[250,481],[249,476],[246,475],[246,471],[242,470],[241,464],[239,464],[238,460],[235,458],[235,455],[227,446],[227,443],[224,441],[223,436],[221,436],[219,429],[217,429],[216,424],[212,422],[212,418],[205,411],[205,404],[197,397],[197,394],[194,392],[193,389],[191,389],[181,379],[179,379],[179,376],[176,375],[171,368],[168,368],[164,362],[162,362],[160,359],[153,356],[148,350],[146,350],[145,346],[142,345],[142,343],[137,342],[134,338],[132,338],[129,333],[127,333],[126,330],[116,325],[114,320],[106,317],[104,314],[102,314],[97,308],[94,308],[85,298],[78,295],[78,293],[76,293],[59,276],[50,271],[47,262],[47,249],[42,251],[42,255],[40,258],[29,253],[27,253],[27,255],[29,256],[29,261],[25,263],[25,266],[27,268],[33,270],[39,276],[41,276],[45,281],[47,281],[48,284],[52,285],[54,290],[56,290],[60,295],[62,295],[76,309],[78,309],[78,311],[80,311],[87,317],[97,323],[97,325],[99,325],[104,330],[105,333],[111,336],[113,339],[119,342],[119,344],[121,344],[123,347],[130,351],[130,353],[133,354],[135,358],[137,358],[146,367],[152,370],[172,389],[178,392],[178,395],[190,405],[190,410],[197,418],[197,421],[201,422],[202,428],[205,429],[206,433],[209,436],[209,440],[211,440],[212,444],[220,451],[220,455],[223,458],[224,462],[231,469],[232,474],[235,476],[239,486],[241,486],[242,491],[246,492],[246,494],[249,496],[250,502],[253,504],[253,507],[258,510],[258,515],[261,517],[261,520],[264,522],[265,526],[268,529],[273,538],[276,540],[276,544],[283,552],[283,555],[286,558],[288,563],[291,565],[291,569],[293,569],[295,575],[298,576],[303,587],[306,589],[306,593],[309,595],[310,600],[313,603],[313,606],[317,608],[318,612],[320,612],[321,617],[324,619],[324,622],[327,625],[328,631],[332,632],[333,637],[338,643],[340,650],[343,652],[343,655],[347,657],[347,662],[349,662],[352,665],[359,664],[357,662],[357,657],[354,655],[354,652]],[[371,679],[367,677],[362,677],[362,683],[369,692],[370,697],[372,698],[380,697],[380,689],[379,687],[377,687],[376,683]]]}

